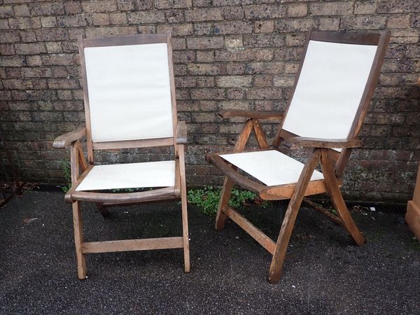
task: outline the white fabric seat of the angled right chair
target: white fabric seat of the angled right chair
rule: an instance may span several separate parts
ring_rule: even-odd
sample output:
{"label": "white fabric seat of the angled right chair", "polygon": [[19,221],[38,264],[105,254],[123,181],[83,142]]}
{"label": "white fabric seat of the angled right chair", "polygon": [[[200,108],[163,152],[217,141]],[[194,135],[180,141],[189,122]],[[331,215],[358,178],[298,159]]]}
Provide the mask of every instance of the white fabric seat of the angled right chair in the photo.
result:
{"label": "white fabric seat of the angled right chair", "polygon": [[[276,150],[225,154],[221,158],[267,186],[297,183],[304,167],[301,162]],[[311,181],[319,179],[323,179],[323,174],[315,170]]]}

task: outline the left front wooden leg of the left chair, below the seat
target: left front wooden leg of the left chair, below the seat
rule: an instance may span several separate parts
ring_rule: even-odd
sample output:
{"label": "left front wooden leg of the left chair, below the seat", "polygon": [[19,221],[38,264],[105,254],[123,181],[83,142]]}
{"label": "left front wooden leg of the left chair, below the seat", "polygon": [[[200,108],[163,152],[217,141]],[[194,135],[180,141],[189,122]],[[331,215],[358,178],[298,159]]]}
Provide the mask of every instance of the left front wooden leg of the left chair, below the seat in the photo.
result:
{"label": "left front wooden leg of the left chair, below the seat", "polygon": [[73,207],[73,229],[74,229],[74,243],[76,246],[76,258],[77,258],[77,272],[78,279],[86,279],[86,259],[82,253],[83,244],[83,221],[82,213],[80,209],[80,202],[76,201],[72,204]]}

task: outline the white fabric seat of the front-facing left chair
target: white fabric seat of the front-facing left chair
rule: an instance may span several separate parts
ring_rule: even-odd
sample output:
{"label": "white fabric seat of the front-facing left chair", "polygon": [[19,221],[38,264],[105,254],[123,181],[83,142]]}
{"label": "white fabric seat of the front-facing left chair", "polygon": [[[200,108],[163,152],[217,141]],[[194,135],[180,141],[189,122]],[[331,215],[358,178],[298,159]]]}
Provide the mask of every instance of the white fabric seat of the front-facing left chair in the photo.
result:
{"label": "white fabric seat of the front-facing left chair", "polygon": [[169,186],[175,186],[175,161],[95,165],[76,190]]}

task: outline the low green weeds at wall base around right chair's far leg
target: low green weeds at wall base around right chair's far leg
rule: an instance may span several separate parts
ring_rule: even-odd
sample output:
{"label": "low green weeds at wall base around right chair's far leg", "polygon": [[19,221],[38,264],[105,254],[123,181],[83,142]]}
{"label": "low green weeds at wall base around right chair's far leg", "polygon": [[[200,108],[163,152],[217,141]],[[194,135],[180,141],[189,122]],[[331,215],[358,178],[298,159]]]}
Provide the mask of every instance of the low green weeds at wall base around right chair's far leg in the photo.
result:
{"label": "low green weeds at wall base around right chair's far leg", "polygon": [[[208,216],[216,215],[219,201],[221,199],[221,189],[213,186],[206,186],[203,189],[188,190],[188,202],[199,207],[204,214]],[[230,194],[229,205],[232,208],[240,209],[246,205],[255,202],[259,207],[267,208],[271,205],[265,200],[258,200],[257,194],[248,190],[232,189]]]}

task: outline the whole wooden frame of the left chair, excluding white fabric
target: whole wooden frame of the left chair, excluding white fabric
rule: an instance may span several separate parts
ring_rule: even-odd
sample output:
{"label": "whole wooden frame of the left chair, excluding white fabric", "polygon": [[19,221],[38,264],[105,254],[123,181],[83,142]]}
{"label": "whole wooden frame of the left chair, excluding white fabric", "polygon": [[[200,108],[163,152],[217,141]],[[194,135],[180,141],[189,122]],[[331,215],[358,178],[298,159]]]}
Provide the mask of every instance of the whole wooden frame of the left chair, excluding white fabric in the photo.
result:
{"label": "whole wooden frame of the left chair, excluding white fabric", "polygon": [[[188,214],[186,199],[186,170],[184,145],[187,143],[187,129],[185,122],[178,122],[176,116],[176,97],[174,85],[174,69],[172,65],[172,42],[168,34],[139,34],[134,36],[118,36],[113,38],[78,38],[82,69],[83,92],[85,99],[86,127],[63,134],[55,139],[54,148],[70,146],[71,157],[71,188],[64,199],[71,202],[73,208],[74,240],[78,266],[78,278],[85,279],[87,275],[85,254],[116,251],[140,251],[163,248],[183,248],[185,272],[190,272],[190,252],[188,243]],[[148,43],[167,43],[169,62],[169,81],[172,101],[172,122],[174,137],[161,139],[143,139],[130,141],[93,142],[90,129],[90,107],[87,91],[87,76],[84,48],[113,45],[134,45]],[[87,160],[83,153],[81,139],[86,137]],[[175,186],[159,188],[137,193],[97,193],[77,191],[76,188],[94,166],[94,151],[115,150],[122,148],[144,148],[154,146],[174,146],[176,178]],[[102,214],[107,214],[107,207],[141,204],[144,202],[163,202],[181,199],[182,237],[162,237],[153,239],[125,239],[118,241],[84,241],[83,223],[80,202],[95,202]]]}

